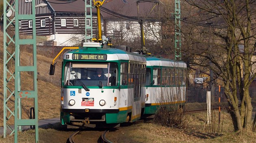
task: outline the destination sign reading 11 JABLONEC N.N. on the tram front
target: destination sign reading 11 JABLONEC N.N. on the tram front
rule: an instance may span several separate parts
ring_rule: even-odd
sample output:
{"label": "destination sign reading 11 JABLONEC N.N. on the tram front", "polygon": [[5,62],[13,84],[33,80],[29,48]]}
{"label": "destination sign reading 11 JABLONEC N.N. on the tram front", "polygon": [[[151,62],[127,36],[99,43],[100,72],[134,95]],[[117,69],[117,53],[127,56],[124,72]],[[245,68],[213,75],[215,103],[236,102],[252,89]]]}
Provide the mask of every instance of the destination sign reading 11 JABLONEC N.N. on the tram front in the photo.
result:
{"label": "destination sign reading 11 JABLONEC N.N. on the tram front", "polygon": [[106,54],[73,54],[74,60],[100,60],[106,61]]}

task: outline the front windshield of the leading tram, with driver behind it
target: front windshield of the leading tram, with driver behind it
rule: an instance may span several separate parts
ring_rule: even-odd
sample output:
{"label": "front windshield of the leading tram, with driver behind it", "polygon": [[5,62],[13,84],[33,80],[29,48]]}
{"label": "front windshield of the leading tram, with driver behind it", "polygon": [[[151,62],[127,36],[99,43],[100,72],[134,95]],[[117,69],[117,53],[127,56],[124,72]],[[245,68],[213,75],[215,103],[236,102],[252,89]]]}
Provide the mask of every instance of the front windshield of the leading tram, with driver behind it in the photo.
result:
{"label": "front windshield of the leading tram, with driver behind it", "polygon": [[117,63],[66,63],[63,82],[66,86],[116,86]]}

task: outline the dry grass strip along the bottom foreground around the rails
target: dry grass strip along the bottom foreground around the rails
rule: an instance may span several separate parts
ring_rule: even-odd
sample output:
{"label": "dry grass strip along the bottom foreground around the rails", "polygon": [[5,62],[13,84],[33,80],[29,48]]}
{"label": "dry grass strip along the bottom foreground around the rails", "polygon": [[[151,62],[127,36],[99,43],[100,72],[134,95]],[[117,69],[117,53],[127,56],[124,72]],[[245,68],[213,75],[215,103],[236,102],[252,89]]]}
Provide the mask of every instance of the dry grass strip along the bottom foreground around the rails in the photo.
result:
{"label": "dry grass strip along the bottom foreground around the rails", "polygon": [[[113,130],[106,136],[107,139],[114,143],[180,143],[180,142],[199,142],[199,143],[254,143],[256,138],[255,132],[233,132],[231,118],[228,113],[224,112],[223,131],[220,134],[208,133],[204,129],[206,113],[189,114],[187,118],[191,121],[185,129],[170,128],[161,126],[153,120],[144,122],[135,122],[131,126],[120,127]],[[59,124],[50,126],[48,129],[39,129],[39,142],[65,142],[74,130],[58,130]],[[77,135],[76,140],[79,142],[96,142],[99,131],[84,131]],[[19,142],[34,142],[34,131],[28,130],[19,134]],[[0,142],[13,142],[13,136],[6,139],[0,138]]]}

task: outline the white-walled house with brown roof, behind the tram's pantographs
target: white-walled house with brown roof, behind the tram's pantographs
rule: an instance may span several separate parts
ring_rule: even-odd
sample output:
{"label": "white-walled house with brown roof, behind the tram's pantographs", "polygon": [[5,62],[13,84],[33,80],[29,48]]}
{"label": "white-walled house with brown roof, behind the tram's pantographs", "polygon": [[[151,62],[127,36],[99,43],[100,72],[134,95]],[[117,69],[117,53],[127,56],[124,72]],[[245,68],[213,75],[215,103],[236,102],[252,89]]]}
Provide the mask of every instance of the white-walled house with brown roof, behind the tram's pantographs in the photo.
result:
{"label": "white-walled house with brown roof, behind the tram's pantographs", "polygon": [[[151,2],[150,2],[151,1]],[[103,34],[115,39],[116,44],[126,44],[123,41],[140,41],[141,31],[139,22],[143,22],[145,39],[160,41],[168,30],[172,28],[163,25],[159,15],[162,14],[162,6],[154,0],[137,3],[135,0],[112,0],[102,5]],[[107,10],[105,10],[105,8]],[[113,11],[115,13],[110,13]],[[138,14],[139,13],[139,14]],[[118,42],[120,41],[120,42]]]}

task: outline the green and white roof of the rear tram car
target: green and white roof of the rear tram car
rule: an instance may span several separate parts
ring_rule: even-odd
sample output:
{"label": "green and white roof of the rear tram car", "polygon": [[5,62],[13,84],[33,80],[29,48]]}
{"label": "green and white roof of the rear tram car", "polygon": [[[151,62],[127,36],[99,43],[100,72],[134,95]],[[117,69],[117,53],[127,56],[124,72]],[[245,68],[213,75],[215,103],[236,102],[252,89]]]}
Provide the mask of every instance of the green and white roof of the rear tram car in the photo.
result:
{"label": "green and white roof of the rear tram car", "polygon": [[164,67],[187,67],[184,61],[175,61],[171,59],[158,58],[158,57],[146,57],[147,66],[164,66]]}

